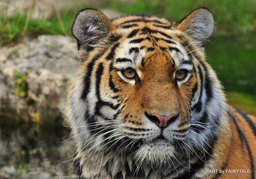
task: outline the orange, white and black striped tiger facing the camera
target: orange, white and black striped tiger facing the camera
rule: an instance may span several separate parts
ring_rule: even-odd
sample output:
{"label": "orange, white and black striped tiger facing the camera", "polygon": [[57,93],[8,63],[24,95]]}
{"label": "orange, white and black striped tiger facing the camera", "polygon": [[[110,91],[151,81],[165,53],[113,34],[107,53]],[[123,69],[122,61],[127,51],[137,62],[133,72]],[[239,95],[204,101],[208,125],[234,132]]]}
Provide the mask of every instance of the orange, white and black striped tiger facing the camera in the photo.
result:
{"label": "orange, white and black striped tiger facing the camera", "polygon": [[65,123],[79,178],[256,177],[256,118],[228,105],[205,60],[214,27],[206,7],[177,23],[78,12],[72,35],[81,65]]}

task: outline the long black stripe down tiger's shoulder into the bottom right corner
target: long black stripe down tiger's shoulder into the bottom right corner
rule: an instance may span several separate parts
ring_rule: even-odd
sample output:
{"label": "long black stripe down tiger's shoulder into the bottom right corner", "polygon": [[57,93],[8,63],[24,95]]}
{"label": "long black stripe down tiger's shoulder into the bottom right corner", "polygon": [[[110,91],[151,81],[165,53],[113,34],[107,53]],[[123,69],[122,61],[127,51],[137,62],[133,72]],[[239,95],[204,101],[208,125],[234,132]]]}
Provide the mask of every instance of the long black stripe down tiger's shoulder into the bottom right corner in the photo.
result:
{"label": "long black stripe down tiger's shoulder into the bottom right corner", "polygon": [[252,172],[250,172],[251,173],[251,178],[255,178],[255,176],[254,176],[253,155],[251,155],[251,151],[250,151],[250,147],[249,147],[249,144],[247,142],[247,139],[246,139],[245,135],[243,134],[242,130],[240,129],[240,127],[238,126],[236,118],[234,118],[234,116],[230,112],[229,112],[229,116],[232,118],[232,121],[233,121],[234,125],[236,126],[236,130],[238,132],[238,135],[239,135],[239,138],[240,138],[241,142],[244,141],[245,144],[246,144],[246,148],[247,148],[248,155],[249,155],[249,160],[250,160],[250,165],[251,165],[251,170],[250,171],[252,171]]}

